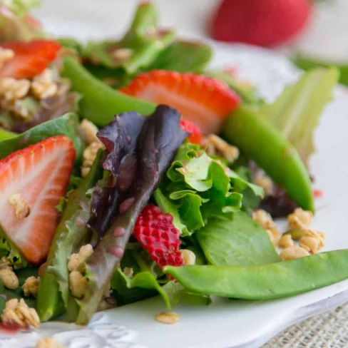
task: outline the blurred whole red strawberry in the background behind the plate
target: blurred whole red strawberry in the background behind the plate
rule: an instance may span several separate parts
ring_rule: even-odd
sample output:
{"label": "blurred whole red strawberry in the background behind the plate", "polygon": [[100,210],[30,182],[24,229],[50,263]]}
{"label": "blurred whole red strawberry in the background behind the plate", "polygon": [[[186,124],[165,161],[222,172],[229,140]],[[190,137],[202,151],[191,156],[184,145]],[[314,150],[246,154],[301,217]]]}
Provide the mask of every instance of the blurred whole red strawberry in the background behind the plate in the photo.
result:
{"label": "blurred whole red strawberry in the background behind the plate", "polygon": [[224,0],[211,32],[220,41],[274,46],[299,33],[311,10],[310,0]]}

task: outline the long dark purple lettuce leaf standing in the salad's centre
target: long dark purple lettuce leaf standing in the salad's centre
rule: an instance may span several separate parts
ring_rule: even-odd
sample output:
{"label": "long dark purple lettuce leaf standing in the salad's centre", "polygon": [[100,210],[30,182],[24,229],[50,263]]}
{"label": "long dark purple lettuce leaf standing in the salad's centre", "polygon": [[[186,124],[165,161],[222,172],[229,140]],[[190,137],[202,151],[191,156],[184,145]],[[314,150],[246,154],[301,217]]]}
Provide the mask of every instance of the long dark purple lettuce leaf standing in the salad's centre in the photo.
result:
{"label": "long dark purple lettuce leaf standing in the salad's centre", "polygon": [[[131,122],[128,113],[116,117]],[[118,196],[118,199],[114,206],[117,207],[117,213],[113,216],[111,225],[96,250],[86,261],[88,289],[83,299],[78,301],[80,307],[76,320],[78,324],[86,324],[96,312],[103,291],[111,280],[113,272],[120,265],[123,256],[123,252],[121,255],[118,252],[113,252],[113,250],[120,250],[119,248],[121,248],[124,251],[126,249],[136,218],[148,203],[151,194],[168,170],[175,153],[188,136],[181,129],[179,120],[180,113],[178,111],[169,106],[158,106],[151,116],[145,118],[136,140],[135,152],[133,153],[136,164],[135,176],[132,177],[132,180],[126,180],[123,185],[120,185],[122,181],[120,183],[119,178],[125,174],[123,172],[126,171],[126,174],[129,172],[128,165],[123,167],[123,170],[121,170],[120,165],[119,172],[112,170],[112,174],[117,175],[118,179],[116,183],[110,186],[109,193],[116,191],[114,196]],[[117,123],[115,126],[117,126]],[[135,125],[133,126],[135,127]],[[108,136],[107,138],[101,138],[101,140],[105,141],[106,151],[109,154],[110,150],[125,149],[125,151],[118,151],[117,156],[113,156],[115,160],[123,163],[123,160],[128,158],[127,148],[128,145],[131,145],[132,139],[127,136],[118,138],[121,132],[117,127],[114,129],[113,138]],[[115,163],[115,166],[117,166],[117,163]],[[111,168],[108,167],[108,170],[111,170]],[[111,178],[113,175],[111,175]],[[121,207],[121,203],[127,203],[127,207],[125,208],[124,205]],[[116,229],[122,229],[123,235],[116,237],[114,235]]]}

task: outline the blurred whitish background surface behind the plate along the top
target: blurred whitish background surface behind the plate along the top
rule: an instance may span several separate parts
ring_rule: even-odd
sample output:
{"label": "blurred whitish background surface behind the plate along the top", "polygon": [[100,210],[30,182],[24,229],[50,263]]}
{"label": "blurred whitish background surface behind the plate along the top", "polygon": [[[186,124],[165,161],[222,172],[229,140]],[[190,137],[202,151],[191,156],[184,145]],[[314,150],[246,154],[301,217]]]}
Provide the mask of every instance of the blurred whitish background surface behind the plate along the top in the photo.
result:
{"label": "blurred whitish background surface behind the plate along the top", "polygon": [[[242,0],[240,0],[242,1]],[[265,1],[265,0],[260,0]],[[71,11],[71,3],[79,11]],[[35,13],[53,33],[85,39],[115,38],[126,30],[138,0],[44,0]],[[186,36],[207,36],[210,16],[218,0],[157,0],[160,22]],[[57,17],[64,19],[64,26]],[[86,26],[86,18],[88,23]],[[314,56],[348,61],[348,0],[327,0],[316,6],[309,26],[295,43],[287,45]],[[87,35],[86,35],[87,33]],[[287,49],[285,50],[287,51]]]}

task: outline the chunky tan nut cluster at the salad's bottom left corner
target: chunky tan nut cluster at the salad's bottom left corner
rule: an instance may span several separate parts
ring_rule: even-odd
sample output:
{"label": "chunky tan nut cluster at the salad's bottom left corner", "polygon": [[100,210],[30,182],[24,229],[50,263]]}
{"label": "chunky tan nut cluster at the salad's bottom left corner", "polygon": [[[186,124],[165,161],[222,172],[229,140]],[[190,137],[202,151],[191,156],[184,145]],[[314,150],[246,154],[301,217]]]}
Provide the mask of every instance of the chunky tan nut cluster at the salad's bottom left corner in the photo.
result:
{"label": "chunky tan nut cluster at the salad's bottom left corner", "polygon": [[23,299],[12,299],[6,302],[1,314],[1,321],[6,324],[18,324],[21,327],[39,327],[40,319],[34,308],[29,308]]}

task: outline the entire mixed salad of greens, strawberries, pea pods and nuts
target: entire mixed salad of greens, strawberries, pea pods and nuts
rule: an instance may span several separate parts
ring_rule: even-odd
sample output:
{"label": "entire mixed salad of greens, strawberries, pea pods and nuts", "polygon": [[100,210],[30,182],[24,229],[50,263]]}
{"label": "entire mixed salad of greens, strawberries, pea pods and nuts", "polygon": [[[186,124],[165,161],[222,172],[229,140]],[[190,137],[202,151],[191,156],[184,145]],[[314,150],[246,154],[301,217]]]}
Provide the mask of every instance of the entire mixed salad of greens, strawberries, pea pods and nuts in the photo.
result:
{"label": "entire mixed salad of greens, strawberries, pea pods and nuts", "polygon": [[159,28],[150,2],[121,39],[87,44],[50,36],[29,4],[0,4],[3,327],[348,278],[347,250],[319,252],[325,236],[310,226],[313,133],[336,68],[266,103],[208,68],[208,44]]}

